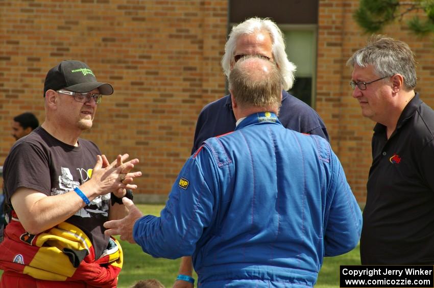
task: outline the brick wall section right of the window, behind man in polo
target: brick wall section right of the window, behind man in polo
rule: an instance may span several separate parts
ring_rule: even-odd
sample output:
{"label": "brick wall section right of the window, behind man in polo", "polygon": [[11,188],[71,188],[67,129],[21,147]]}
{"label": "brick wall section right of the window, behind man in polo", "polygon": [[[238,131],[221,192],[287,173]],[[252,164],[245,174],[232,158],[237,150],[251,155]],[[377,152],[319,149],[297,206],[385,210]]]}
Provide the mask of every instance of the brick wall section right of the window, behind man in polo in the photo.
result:
{"label": "brick wall section right of the window, behind man in polo", "polygon": [[[372,162],[371,137],[374,122],[361,116],[356,99],[351,97],[351,69],[348,58],[366,44],[364,34],[353,20],[358,0],[320,0],[318,27],[317,111],[326,122],[332,147],[339,155],[347,179],[359,202],[366,200],[366,182]],[[419,38],[405,22],[415,13],[388,25],[381,34],[408,43],[416,55],[417,92],[434,107],[430,84],[434,82],[434,38]],[[423,12],[420,12],[423,16]]]}

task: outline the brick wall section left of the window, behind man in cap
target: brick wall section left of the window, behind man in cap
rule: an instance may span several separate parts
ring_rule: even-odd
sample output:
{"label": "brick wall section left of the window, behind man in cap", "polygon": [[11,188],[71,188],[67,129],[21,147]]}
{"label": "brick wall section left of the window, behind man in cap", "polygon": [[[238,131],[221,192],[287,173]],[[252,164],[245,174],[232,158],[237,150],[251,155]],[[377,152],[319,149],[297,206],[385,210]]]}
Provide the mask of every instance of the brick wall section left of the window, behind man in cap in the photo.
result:
{"label": "brick wall section left of the window, behind man in cap", "polygon": [[225,93],[227,1],[0,2],[0,165],[12,118],[44,120],[43,81],[63,59],[86,62],[114,94],[83,138],[137,157],[138,192],[167,195],[190,155],[197,115]]}

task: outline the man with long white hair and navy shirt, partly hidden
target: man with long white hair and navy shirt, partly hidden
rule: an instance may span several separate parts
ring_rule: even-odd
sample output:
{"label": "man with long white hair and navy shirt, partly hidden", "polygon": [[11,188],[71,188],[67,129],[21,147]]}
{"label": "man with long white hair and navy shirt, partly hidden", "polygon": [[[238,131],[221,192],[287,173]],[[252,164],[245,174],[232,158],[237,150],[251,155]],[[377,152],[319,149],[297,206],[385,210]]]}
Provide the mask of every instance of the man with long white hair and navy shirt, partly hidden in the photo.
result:
{"label": "man with long white hair and navy shirt, partly hidden", "polygon": [[[229,78],[234,64],[248,55],[276,63],[281,73],[283,90],[279,121],[282,125],[297,132],[318,135],[329,140],[326,126],[318,113],[286,92],[293,86],[296,67],[287,58],[283,35],[276,23],[270,19],[253,17],[232,28],[222,58],[225,75]],[[206,139],[232,132],[235,129],[235,122],[230,94],[207,104],[198,117],[191,154]],[[191,257],[182,258],[179,274],[181,277],[178,278],[181,279],[176,281],[175,286],[192,287]],[[183,279],[188,279],[190,283]]]}

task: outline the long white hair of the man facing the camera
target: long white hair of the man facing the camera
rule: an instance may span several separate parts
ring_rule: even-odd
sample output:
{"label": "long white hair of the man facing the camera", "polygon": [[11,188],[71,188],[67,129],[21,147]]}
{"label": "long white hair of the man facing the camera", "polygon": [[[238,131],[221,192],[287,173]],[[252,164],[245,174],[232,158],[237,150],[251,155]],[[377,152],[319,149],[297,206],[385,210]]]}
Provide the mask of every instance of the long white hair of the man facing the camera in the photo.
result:
{"label": "long white hair of the man facing the camera", "polygon": [[270,34],[271,41],[273,42],[272,53],[274,60],[282,74],[283,89],[290,90],[294,84],[294,72],[296,66],[288,60],[282,32],[277,27],[276,23],[268,18],[261,19],[253,17],[232,28],[232,31],[229,34],[229,39],[225,45],[225,54],[221,61],[226,77],[229,79],[231,73],[231,60],[234,56],[236,40],[238,37],[245,34],[254,34],[257,31],[266,31]]}

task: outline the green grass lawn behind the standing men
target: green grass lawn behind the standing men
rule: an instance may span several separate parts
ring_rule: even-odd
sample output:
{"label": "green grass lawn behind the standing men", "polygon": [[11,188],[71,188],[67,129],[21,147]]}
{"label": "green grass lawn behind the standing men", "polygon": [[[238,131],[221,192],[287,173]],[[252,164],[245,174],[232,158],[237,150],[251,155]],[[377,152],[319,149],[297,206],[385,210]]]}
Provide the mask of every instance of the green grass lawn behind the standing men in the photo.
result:
{"label": "green grass lawn behind the standing men", "polygon": [[[137,205],[143,214],[159,216],[163,205]],[[131,287],[136,281],[142,279],[158,279],[166,287],[172,287],[176,276],[180,259],[170,260],[153,258],[141,251],[138,245],[120,241],[124,251],[124,267],[119,275],[119,288]],[[324,264],[315,287],[335,288],[339,287],[339,266],[360,265],[360,253],[357,246],[353,251],[337,256],[324,258]],[[0,270],[0,275],[3,273]],[[194,275],[197,280],[197,275]]]}

